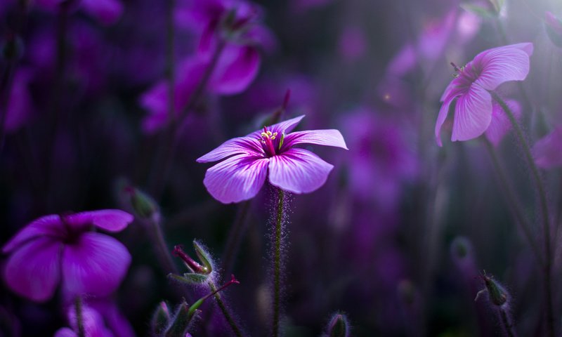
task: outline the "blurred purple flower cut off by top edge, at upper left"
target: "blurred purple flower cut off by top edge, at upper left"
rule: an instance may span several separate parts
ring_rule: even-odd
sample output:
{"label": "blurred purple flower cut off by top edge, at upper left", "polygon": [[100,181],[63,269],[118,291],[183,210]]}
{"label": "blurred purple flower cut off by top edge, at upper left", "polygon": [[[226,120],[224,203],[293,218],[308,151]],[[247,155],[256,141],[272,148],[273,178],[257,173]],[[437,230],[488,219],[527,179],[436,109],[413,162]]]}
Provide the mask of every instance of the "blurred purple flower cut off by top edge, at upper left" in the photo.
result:
{"label": "blurred purple flower cut off by top edge, at upper left", "polygon": [[[36,0],[37,6],[48,11],[58,11],[65,0]],[[119,0],[79,0],[75,1],[74,8],[83,8],[104,25],[112,25],[123,13],[123,4]]]}

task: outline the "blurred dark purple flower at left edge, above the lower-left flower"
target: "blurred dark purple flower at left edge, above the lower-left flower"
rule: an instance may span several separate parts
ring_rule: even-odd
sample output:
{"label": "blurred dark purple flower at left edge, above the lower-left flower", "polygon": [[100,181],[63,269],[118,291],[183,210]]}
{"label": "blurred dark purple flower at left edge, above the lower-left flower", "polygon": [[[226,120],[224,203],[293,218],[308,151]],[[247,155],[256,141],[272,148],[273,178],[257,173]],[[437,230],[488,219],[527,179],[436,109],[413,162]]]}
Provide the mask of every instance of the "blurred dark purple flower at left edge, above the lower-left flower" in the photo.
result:
{"label": "blurred dark purple flower at left edge, above the lower-left flower", "polygon": [[33,110],[28,88],[31,77],[32,71],[27,69],[17,70],[14,74],[8,109],[4,117],[6,118],[4,129],[8,133],[17,131],[30,119]]}

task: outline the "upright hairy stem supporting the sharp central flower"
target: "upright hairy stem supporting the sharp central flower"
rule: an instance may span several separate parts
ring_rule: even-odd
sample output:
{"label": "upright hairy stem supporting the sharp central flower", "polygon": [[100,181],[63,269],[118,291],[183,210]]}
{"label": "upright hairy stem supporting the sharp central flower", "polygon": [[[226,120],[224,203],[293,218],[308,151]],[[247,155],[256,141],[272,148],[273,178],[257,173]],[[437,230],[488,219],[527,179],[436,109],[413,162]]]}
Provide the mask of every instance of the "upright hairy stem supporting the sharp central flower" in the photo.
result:
{"label": "upright hairy stem supporting the sharp central flower", "polygon": [[273,337],[279,336],[279,316],[281,312],[281,239],[284,197],[285,192],[283,192],[280,188],[277,188],[277,218],[275,218],[275,244],[273,246]]}

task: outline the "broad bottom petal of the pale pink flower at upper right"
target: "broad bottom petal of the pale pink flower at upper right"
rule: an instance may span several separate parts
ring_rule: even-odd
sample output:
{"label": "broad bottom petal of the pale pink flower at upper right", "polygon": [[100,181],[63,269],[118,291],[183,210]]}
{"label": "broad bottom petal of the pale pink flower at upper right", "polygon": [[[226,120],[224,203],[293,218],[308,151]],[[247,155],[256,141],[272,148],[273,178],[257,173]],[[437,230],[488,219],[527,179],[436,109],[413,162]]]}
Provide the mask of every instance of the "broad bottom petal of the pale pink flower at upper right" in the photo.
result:
{"label": "broad bottom petal of the pale pink flower at upper right", "polygon": [[470,140],[480,136],[492,120],[492,97],[478,84],[472,84],[455,106],[451,140]]}

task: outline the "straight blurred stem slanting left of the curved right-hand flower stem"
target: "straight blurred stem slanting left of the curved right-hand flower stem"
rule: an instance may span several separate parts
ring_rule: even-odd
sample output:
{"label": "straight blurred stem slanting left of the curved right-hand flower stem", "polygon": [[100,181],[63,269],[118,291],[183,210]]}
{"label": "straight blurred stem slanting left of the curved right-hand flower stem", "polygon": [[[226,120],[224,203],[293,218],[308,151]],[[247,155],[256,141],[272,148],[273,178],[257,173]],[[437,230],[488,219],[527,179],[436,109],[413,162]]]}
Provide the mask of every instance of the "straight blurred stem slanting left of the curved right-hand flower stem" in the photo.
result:
{"label": "straight blurred stem slanting left of the curved right-hand flower stem", "polygon": [[482,138],[482,139],[484,144],[486,145],[486,150],[488,150],[488,153],[490,154],[490,158],[492,159],[492,164],[494,166],[494,169],[497,174],[497,178],[499,180],[500,188],[502,189],[502,192],[504,192],[504,196],[507,199],[507,203],[510,206],[511,212],[513,213],[516,223],[518,223],[518,225],[521,227],[521,230],[525,235],[525,239],[527,239],[527,242],[531,247],[532,252],[535,253],[535,258],[537,258],[539,264],[542,266],[544,265],[544,261],[542,260],[542,254],[540,253],[539,247],[537,246],[535,239],[533,239],[532,237],[530,225],[527,219],[525,218],[525,216],[523,216],[523,213],[521,212],[523,207],[521,206],[521,203],[516,197],[514,187],[509,183],[509,179],[507,178],[507,173],[504,169],[504,166],[502,166],[502,164],[499,162],[497,153],[493,145],[490,143],[490,141],[487,138]]}

